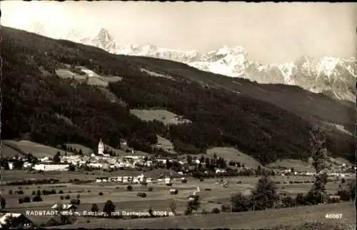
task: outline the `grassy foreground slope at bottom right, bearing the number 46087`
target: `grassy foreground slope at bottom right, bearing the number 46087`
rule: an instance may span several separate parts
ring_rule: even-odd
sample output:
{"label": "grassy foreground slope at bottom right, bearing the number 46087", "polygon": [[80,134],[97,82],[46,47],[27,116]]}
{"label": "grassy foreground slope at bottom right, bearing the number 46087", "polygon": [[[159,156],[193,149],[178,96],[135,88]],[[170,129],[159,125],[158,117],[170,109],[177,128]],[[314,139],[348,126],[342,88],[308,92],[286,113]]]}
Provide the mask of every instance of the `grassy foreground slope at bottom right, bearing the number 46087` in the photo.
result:
{"label": "grassy foreground slope at bottom right, bearing the number 46087", "polygon": [[[342,214],[342,218],[326,219],[325,216],[328,213]],[[356,224],[356,211],[353,202],[241,213],[174,216],[161,219],[91,219],[90,223],[79,221],[76,224],[59,226],[59,228],[93,229],[117,228],[120,226],[124,229],[269,229],[276,226],[289,226],[290,229],[304,223],[312,224],[316,222],[327,226],[338,226],[339,224],[353,226],[353,224]],[[340,226],[344,229],[347,225]]]}

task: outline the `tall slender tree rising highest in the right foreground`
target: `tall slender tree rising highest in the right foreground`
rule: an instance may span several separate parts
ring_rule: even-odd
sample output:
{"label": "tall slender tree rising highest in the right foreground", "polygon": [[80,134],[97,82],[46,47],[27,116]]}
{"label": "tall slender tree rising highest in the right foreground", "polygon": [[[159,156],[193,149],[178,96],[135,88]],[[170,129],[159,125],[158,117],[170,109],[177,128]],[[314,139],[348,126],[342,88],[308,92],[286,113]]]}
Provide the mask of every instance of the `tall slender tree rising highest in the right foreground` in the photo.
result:
{"label": "tall slender tree rising highest in the right foreground", "polygon": [[324,202],[327,198],[326,183],[328,175],[326,173],[327,149],[325,145],[326,138],[323,132],[317,126],[313,127],[310,132],[310,151],[316,176],[311,190],[306,194],[306,201],[310,204]]}

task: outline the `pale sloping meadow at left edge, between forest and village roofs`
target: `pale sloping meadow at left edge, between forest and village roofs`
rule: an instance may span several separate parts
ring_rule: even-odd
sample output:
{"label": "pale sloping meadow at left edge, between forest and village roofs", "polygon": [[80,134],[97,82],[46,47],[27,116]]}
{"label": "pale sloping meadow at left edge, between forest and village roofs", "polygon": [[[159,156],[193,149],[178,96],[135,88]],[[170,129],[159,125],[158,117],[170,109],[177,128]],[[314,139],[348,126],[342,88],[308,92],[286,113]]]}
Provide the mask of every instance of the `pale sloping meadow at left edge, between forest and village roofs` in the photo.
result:
{"label": "pale sloping meadow at left edge, between forest and village roofs", "polygon": [[[64,154],[64,151],[61,149],[56,149],[54,147],[46,146],[44,144],[38,144],[36,142],[32,141],[14,141],[14,140],[2,140],[4,145],[7,146],[6,148],[1,147],[1,153],[3,156],[13,156],[15,154],[15,150],[11,149],[9,146],[13,146],[15,149],[19,149],[17,154],[19,156],[24,154],[29,154],[31,153],[32,155],[42,158],[45,156],[48,157],[53,157],[56,155],[57,151],[59,151],[61,154]],[[71,154],[68,153],[67,154]]]}

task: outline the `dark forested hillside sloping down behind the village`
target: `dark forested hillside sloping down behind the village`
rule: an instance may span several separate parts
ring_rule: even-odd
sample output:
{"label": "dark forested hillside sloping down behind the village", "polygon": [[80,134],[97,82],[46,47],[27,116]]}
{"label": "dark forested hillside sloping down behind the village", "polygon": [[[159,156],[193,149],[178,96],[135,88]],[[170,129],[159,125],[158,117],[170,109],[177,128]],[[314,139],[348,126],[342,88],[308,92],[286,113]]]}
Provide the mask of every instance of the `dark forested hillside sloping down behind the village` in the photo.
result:
{"label": "dark forested hillside sloping down behind the village", "polygon": [[[263,164],[278,158],[308,157],[310,121],[249,94],[236,94],[216,83],[202,84],[193,78],[197,70],[184,64],[108,54],[4,26],[1,36],[2,139],[94,147],[102,138],[116,147],[124,138],[136,149],[151,151],[150,145],[160,134],[174,143],[178,153],[235,146]],[[124,77],[109,84],[109,89],[128,106],[106,99],[99,86],[60,79],[55,70],[64,64],[86,66],[102,76]],[[150,76],[140,68],[169,74],[175,81]],[[222,81],[203,71],[199,75]],[[165,127],[129,113],[129,109],[151,107],[167,109],[193,122]],[[354,159],[353,137],[341,135],[336,140],[328,136],[327,144],[332,154]]]}

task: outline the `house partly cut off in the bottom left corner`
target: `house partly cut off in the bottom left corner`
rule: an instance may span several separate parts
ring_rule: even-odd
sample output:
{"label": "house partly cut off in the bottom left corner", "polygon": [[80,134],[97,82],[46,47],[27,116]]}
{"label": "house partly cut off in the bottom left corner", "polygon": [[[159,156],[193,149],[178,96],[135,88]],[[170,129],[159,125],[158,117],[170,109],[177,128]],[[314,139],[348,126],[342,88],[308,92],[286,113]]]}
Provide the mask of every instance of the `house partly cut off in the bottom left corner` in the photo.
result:
{"label": "house partly cut off in the bottom left corner", "polygon": [[1,214],[0,228],[31,229],[34,223],[24,214],[6,213]]}

